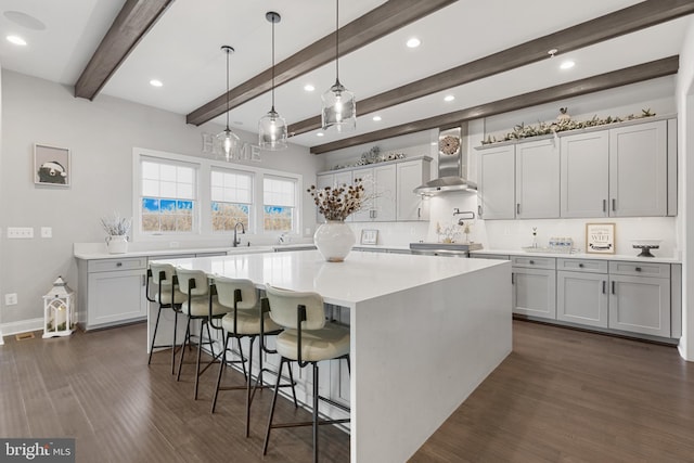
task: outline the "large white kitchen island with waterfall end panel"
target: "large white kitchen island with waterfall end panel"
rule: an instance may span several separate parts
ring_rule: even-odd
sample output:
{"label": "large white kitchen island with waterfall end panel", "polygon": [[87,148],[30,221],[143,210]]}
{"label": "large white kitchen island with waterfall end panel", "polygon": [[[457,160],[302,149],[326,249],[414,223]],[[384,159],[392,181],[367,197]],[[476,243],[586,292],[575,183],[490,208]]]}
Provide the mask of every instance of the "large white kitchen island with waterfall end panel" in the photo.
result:
{"label": "large white kitchen island with waterfall end panel", "polygon": [[402,462],[511,352],[511,265],[316,250],[165,260],[349,309],[352,462]]}

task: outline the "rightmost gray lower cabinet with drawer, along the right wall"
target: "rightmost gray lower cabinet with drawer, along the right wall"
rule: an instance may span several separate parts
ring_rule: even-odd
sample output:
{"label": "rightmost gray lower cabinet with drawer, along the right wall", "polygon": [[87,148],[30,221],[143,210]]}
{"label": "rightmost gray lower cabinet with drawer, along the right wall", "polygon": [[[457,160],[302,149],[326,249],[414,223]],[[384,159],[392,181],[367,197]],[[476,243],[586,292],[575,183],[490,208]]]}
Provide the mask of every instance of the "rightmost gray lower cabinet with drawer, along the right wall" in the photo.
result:
{"label": "rightmost gray lower cabinet with drawer, along the right wall", "polygon": [[609,324],[614,330],[670,337],[670,266],[609,262]]}

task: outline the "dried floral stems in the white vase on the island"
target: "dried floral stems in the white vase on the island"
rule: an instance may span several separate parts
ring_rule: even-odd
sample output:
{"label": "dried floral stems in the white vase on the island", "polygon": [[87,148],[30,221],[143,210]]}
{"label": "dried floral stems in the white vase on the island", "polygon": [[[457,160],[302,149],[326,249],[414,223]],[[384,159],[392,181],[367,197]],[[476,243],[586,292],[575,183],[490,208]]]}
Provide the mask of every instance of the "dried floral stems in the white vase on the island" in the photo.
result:
{"label": "dried floral stems in the white vase on the island", "polygon": [[325,220],[345,220],[350,214],[362,209],[370,200],[360,178],[355,179],[350,185],[343,183],[322,189],[311,185],[306,191],[313,197],[318,211]]}

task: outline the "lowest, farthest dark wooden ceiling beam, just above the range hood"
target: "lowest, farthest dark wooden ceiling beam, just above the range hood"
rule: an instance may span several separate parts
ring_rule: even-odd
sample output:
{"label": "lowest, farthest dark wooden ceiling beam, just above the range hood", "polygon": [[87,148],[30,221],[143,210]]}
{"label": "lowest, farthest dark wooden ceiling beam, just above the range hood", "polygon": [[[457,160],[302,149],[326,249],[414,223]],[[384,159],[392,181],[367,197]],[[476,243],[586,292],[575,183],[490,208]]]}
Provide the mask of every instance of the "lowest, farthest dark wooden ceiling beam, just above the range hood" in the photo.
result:
{"label": "lowest, farthest dark wooden ceiling beam, just above the range hood", "polygon": [[489,117],[497,114],[522,110],[524,107],[536,106],[538,104],[550,103],[553,101],[579,97],[596,91],[608,90],[615,87],[621,87],[643,80],[655,79],[657,77],[669,76],[672,74],[677,74],[678,68],[679,56],[676,55],[664,57],[661,60],[652,61],[650,63],[625,67],[624,69],[614,70],[612,73],[601,74],[581,80],[574,80],[573,82],[562,83],[554,87],[549,87],[547,89],[536,90],[529,93],[523,93],[491,103],[485,103],[478,106],[455,111],[453,113],[441,114],[440,116],[434,116],[426,119],[415,120],[409,124],[402,124],[396,127],[388,127],[387,129],[383,130],[376,130],[374,132],[363,133],[361,136],[352,137],[349,139],[320,144],[317,146],[312,146],[310,151],[313,154],[321,154],[329,151],[357,146],[363,143],[371,143],[374,141],[404,136],[413,132],[420,132],[423,130],[454,126],[465,120],[480,119],[483,117]]}

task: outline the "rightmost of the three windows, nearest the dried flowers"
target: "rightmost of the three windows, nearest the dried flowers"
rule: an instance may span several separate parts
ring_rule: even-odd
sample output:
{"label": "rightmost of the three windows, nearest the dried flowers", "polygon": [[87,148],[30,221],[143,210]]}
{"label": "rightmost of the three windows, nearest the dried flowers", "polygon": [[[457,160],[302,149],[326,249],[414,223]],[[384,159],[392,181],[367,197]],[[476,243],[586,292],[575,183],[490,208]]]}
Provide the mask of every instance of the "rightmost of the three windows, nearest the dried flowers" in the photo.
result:
{"label": "rightmost of the three windows, nearest the dried flowers", "polygon": [[295,230],[296,180],[265,176],[262,179],[262,227],[265,231]]}

